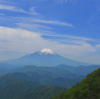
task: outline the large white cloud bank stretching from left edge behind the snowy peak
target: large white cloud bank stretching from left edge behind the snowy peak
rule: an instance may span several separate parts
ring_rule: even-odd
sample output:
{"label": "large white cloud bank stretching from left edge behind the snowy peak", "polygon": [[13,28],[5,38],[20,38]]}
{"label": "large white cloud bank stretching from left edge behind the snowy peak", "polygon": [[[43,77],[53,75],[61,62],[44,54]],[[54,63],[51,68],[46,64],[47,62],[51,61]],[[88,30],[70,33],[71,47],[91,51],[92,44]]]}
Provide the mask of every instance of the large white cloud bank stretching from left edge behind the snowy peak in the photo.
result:
{"label": "large white cloud bank stretching from left edge behind the snowy peak", "polygon": [[57,53],[80,55],[96,51],[88,43],[81,45],[61,44],[45,40],[40,34],[22,29],[0,27],[0,50],[33,53],[42,48],[53,49]]}

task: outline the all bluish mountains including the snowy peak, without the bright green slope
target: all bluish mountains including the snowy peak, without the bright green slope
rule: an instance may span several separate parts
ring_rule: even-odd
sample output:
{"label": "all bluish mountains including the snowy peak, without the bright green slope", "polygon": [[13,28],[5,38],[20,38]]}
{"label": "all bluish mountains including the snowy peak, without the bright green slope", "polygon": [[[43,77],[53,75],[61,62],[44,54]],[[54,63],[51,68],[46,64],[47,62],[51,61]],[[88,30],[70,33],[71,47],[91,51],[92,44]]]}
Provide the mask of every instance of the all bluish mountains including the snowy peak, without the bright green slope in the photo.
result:
{"label": "all bluish mountains including the snowy peak, without the bright green slope", "polygon": [[0,99],[49,99],[98,68],[100,65],[70,60],[50,49],[4,61],[0,63]]}

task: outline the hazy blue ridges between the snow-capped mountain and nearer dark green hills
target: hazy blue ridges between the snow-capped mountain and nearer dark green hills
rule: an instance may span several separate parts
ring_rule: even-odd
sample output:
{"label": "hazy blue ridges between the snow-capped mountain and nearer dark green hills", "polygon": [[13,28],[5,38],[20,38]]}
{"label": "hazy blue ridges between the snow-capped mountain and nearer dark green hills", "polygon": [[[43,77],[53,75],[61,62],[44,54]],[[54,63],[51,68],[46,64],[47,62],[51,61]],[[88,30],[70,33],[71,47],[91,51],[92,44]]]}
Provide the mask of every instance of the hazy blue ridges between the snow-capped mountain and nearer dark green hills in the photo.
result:
{"label": "hazy blue ridges between the snow-capped mountain and nearer dark green hills", "polygon": [[68,66],[58,65],[54,67],[42,67],[42,66],[23,66],[15,69],[0,69],[0,75],[8,73],[24,73],[28,75],[34,82],[46,86],[62,86],[70,88],[77,82],[80,82],[86,77],[87,74],[91,73],[95,69],[99,68],[100,65],[92,66]]}

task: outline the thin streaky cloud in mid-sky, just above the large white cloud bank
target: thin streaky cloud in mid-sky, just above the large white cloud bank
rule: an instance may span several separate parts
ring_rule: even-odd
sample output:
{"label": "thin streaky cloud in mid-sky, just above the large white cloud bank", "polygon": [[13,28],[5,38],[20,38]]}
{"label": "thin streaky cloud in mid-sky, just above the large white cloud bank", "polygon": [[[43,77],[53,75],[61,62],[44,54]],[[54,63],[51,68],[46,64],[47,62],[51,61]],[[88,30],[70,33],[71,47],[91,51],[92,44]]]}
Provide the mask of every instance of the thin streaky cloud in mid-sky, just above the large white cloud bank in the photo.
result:
{"label": "thin streaky cloud in mid-sky, just above the large white cloud bank", "polygon": [[18,19],[20,19],[22,22],[21,23],[17,23],[17,25],[19,26],[24,26],[24,24],[30,24],[32,25],[37,25],[37,27],[43,27],[43,28],[48,28],[50,29],[50,27],[48,27],[48,24],[51,25],[61,25],[61,26],[67,26],[67,27],[71,27],[73,28],[74,26],[72,24],[68,24],[65,22],[59,22],[59,21],[53,21],[53,20],[42,20],[42,19],[38,19],[38,18],[34,18],[34,17],[18,17]]}

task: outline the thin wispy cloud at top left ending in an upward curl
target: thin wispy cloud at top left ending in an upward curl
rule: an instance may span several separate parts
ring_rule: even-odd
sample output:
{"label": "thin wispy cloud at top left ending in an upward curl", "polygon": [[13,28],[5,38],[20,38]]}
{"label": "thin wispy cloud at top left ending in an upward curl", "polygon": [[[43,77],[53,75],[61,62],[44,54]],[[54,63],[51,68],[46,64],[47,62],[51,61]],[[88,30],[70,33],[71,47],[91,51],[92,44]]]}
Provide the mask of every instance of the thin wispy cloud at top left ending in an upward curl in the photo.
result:
{"label": "thin wispy cloud at top left ending in an upward curl", "polygon": [[21,8],[15,7],[15,6],[11,6],[11,5],[2,5],[0,4],[0,10],[9,10],[9,11],[14,11],[14,12],[21,12],[21,13],[26,13],[26,14],[33,14],[33,15],[37,15],[38,13],[35,12],[34,9],[31,10],[31,12],[27,12]]}

